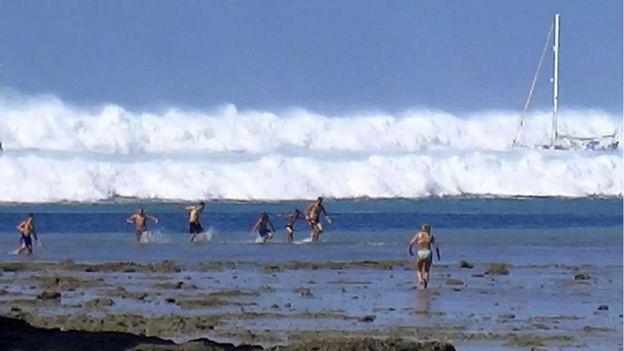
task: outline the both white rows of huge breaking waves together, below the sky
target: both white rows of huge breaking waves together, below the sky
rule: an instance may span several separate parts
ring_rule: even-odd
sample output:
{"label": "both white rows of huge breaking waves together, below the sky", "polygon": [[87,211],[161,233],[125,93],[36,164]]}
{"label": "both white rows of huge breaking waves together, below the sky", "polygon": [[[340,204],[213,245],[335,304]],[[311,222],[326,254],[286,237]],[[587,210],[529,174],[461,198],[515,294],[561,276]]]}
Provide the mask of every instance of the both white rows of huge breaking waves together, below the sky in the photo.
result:
{"label": "both white rows of huge breaking waves together, below the sky", "polygon": [[[305,109],[99,111],[55,99],[0,110],[0,201],[309,199],[432,195],[615,196],[620,152],[511,149],[516,112],[418,109],[322,116]],[[564,111],[563,132],[610,134],[620,116]],[[548,141],[550,112],[524,144]]]}

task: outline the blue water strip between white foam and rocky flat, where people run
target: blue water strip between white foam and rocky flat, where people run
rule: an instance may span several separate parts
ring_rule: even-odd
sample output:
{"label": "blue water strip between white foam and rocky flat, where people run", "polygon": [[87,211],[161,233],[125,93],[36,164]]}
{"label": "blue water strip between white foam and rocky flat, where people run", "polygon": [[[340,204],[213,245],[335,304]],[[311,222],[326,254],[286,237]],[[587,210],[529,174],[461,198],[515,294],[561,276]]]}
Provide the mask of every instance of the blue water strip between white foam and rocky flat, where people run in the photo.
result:
{"label": "blue water strip between white foam and rocky flat, where people run", "polygon": [[[137,244],[124,224],[137,206],[160,220],[149,223],[149,244]],[[286,244],[285,214],[307,202],[208,202],[203,226],[210,241],[190,244],[187,213],[177,204],[16,205],[0,207],[4,261],[283,262],[409,259],[407,244],[428,222],[442,263],[461,259],[510,264],[621,264],[624,241],[618,199],[326,200],[333,223],[316,245]],[[276,226],[268,245],[255,244],[262,211]],[[32,257],[8,252],[19,244],[15,227],[36,214],[42,247]],[[295,239],[309,237],[298,221]]]}

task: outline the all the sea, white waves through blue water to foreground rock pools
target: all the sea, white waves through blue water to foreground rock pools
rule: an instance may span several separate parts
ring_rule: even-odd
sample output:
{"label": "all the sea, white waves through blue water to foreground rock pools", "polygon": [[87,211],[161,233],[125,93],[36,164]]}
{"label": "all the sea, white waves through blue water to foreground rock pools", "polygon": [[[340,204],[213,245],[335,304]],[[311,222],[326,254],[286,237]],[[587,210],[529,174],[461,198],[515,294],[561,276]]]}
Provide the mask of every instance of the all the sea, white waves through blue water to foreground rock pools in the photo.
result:
{"label": "all the sea, white waves through blue water to foreground rock pools", "polygon": [[[597,110],[563,111],[560,127],[568,135],[593,136],[618,130],[621,120]],[[68,106],[57,99],[2,101],[0,262],[407,260],[409,240],[428,222],[442,254],[441,262],[434,260],[428,290],[434,295],[413,289],[410,267],[267,274],[239,265],[155,277],[113,272],[107,284],[157,292],[155,300],[139,302],[114,296],[113,309],[145,315],[216,313],[168,304],[161,297],[175,291],[152,286],[189,278],[200,292],[270,285],[274,292],[263,293],[251,308],[259,314],[278,304],[285,313],[339,308],[351,316],[377,316],[370,325],[254,317],[227,326],[256,332],[274,324],[281,332],[450,325],[507,333],[534,330],[534,319],[555,318],[553,330],[593,349],[617,349],[624,344],[617,336],[624,310],[622,152],[512,149],[518,122],[514,111],[324,116],[305,109],[134,112]],[[520,142],[542,144],[549,133],[550,112],[534,112]],[[326,196],[333,223],[325,224],[317,244],[286,244],[285,219],[278,214],[303,210],[318,195]],[[191,244],[180,207],[198,199],[208,200],[202,224],[209,240]],[[134,226],[124,223],[139,206],[160,219],[149,223],[147,244],[138,244]],[[277,232],[260,245],[251,228],[264,211]],[[34,255],[12,254],[19,245],[16,225],[29,212],[36,214],[42,246]],[[303,221],[295,229],[296,240],[310,235]],[[459,269],[460,260],[475,268]],[[514,265],[512,274],[479,275],[489,262]],[[591,282],[575,281],[578,270],[592,275]],[[31,289],[30,274],[2,277],[12,293],[32,295],[39,290]],[[449,278],[465,284],[446,284]],[[296,292],[305,286],[322,299]],[[66,292],[64,299],[110,294],[84,289]],[[597,311],[600,304],[610,310]],[[55,313],[73,313],[67,305],[59,308]],[[517,319],[507,324],[502,316],[509,314]],[[579,319],[567,320],[572,314]],[[587,325],[612,334],[592,336],[583,329]],[[470,343],[460,344],[469,349]],[[483,349],[477,344],[475,349]]]}

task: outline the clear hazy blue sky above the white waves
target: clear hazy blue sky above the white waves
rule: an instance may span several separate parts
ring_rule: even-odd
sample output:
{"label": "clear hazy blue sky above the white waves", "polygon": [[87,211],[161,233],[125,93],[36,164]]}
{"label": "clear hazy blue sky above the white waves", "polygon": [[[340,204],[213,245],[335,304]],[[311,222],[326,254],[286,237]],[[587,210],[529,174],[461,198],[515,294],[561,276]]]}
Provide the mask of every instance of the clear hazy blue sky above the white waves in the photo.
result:
{"label": "clear hazy blue sky above the white waves", "polygon": [[0,85],[130,108],[522,109],[557,11],[562,107],[622,111],[615,0],[0,0]]}

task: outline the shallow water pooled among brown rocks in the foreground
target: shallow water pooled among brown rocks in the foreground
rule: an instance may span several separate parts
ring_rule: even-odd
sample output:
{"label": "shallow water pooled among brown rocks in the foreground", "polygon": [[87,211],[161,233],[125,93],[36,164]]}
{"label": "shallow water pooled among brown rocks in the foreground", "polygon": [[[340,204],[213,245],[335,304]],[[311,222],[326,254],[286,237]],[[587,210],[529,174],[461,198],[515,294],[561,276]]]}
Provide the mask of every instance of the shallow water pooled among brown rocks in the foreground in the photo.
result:
{"label": "shallow water pooled among brown rocks in the foreground", "polygon": [[[537,338],[554,334],[571,338],[570,347],[613,349],[624,342],[620,336],[624,329],[624,299],[618,289],[624,277],[622,267],[524,265],[510,267],[509,275],[481,275],[487,268],[485,264],[477,263],[474,269],[439,265],[427,290],[414,289],[409,264],[394,264],[390,270],[381,266],[266,270],[250,263],[236,268],[224,266],[217,271],[189,268],[173,274],[18,270],[2,275],[3,285],[9,284],[9,294],[1,297],[0,308],[24,309],[23,303],[11,302],[21,299],[31,301],[29,305],[37,308],[37,315],[97,316],[104,309],[80,304],[96,297],[111,298],[115,304],[105,308],[111,314],[218,316],[220,322],[215,329],[192,336],[230,335],[228,340],[239,342],[243,339],[235,330],[271,334],[280,340],[313,330],[449,339],[463,350],[464,345],[475,344],[470,341],[473,339],[481,338],[477,346],[498,344],[501,349],[502,342],[513,335]],[[575,280],[577,272],[592,278]],[[34,300],[42,291],[34,280],[46,275],[84,280],[76,285],[77,289],[64,290],[61,301],[42,304]],[[94,283],[98,278],[104,280]],[[144,297],[137,297],[140,293],[145,293]],[[189,308],[177,305],[206,302],[212,294],[228,303]],[[598,310],[602,304],[609,309]],[[374,320],[364,322],[364,315],[373,315]],[[172,336],[175,340],[191,337]]]}

